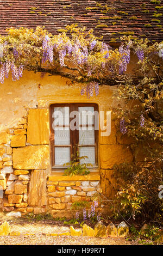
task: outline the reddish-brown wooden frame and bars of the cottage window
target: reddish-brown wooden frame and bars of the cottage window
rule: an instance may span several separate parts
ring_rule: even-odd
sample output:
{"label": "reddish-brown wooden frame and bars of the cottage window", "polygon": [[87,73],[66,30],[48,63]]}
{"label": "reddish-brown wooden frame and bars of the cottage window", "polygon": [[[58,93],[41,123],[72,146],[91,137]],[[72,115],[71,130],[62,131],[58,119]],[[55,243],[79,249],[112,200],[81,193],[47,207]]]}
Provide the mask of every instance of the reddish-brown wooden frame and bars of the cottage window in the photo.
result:
{"label": "reddish-brown wooden frame and bars of the cottage window", "polygon": [[[95,160],[96,163],[89,168],[98,168],[98,130],[95,130],[95,144],[91,145],[79,145],[79,130],[72,131],[70,129],[70,145],[54,145],[54,130],[52,127],[54,118],[52,117],[54,107],[69,107],[70,113],[72,111],[78,111],[78,107],[94,107],[94,111],[98,111],[98,105],[96,103],[54,103],[50,106],[50,143],[51,143],[51,164],[52,169],[66,169],[64,166],[55,166],[55,147],[70,147],[70,154],[74,154],[73,146],[78,145],[79,147],[95,147]],[[70,118],[70,122],[73,118]],[[71,159],[72,160],[72,159]]]}

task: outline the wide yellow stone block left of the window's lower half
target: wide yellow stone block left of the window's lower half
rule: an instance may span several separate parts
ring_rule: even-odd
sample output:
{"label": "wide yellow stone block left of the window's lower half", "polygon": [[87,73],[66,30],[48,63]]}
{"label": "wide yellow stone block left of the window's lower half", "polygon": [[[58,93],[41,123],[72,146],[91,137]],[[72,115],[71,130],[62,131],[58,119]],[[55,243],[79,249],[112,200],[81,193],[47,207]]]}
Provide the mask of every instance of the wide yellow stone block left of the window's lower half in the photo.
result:
{"label": "wide yellow stone block left of the window's lower half", "polygon": [[15,169],[46,169],[49,164],[49,146],[14,148],[12,161]]}

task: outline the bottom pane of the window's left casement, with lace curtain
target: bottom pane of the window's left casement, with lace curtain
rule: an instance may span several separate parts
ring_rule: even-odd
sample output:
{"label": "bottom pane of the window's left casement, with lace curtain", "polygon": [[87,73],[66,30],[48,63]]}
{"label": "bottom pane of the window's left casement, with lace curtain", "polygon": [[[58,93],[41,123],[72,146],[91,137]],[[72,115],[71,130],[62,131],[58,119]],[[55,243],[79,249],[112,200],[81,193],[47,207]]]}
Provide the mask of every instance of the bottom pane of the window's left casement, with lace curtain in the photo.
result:
{"label": "bottom pane of the window's left casement, with lace curtain", "polygon": [[70,147],[55,148],[55,165],[63,165],[70,162]]}

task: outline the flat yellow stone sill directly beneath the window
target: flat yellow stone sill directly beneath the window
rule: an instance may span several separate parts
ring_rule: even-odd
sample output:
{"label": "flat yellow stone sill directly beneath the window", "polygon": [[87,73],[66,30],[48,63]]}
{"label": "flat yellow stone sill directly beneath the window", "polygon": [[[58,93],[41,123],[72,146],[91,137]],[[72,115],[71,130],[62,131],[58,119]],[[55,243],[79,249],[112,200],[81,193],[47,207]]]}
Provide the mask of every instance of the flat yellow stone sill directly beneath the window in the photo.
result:
{"label": "flat yellow stone sill directly beneath the window", "polygon": [[48,180],[49,181],[65,181],[65,180],[100,180],[99,172],[91,172],[88,175],[73,175],[73,176],[64,176],[63,172],[58,172],[58,173],[52,173]]}

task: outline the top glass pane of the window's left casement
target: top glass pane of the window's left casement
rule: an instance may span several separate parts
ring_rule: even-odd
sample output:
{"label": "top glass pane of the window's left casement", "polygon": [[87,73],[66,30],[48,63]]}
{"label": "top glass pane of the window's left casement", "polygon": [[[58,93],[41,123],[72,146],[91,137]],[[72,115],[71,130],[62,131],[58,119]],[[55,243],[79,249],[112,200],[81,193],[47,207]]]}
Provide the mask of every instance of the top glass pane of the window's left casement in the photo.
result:
{"label": "top glass pane of the window's left casement", "polygon": [[68,125],[69,126],[69,107],[54,107],[54,126]]}

